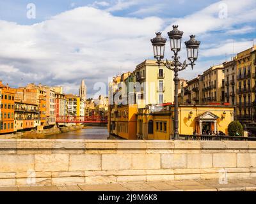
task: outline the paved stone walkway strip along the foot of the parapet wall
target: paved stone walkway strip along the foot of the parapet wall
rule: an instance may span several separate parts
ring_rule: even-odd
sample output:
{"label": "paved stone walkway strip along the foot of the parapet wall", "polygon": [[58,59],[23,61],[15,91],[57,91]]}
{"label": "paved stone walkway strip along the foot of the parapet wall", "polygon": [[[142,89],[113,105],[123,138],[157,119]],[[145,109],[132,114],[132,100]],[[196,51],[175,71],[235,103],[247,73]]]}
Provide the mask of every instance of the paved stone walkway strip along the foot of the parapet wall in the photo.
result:
{"label": "paved stone walkway strip along the foot of the parapet wall", "polygon": [[76,186],[0,187],[0,191],[256,191],[256,179],[173,180],[170,182],[132,182],[122,184],[79,184]]}

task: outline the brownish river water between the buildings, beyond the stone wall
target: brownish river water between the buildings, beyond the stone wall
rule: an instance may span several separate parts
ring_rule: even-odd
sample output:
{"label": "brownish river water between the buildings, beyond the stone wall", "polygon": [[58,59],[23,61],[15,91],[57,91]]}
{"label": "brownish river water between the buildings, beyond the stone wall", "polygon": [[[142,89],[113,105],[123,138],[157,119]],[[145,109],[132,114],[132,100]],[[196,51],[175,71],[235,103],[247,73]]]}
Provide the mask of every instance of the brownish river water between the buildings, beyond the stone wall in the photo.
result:
{"label": "brownish river water between the buildings, beyond the stone wall", "polygon": [[46,136],[47,139],[74,139],[74,140],[107,140],[108,128],[106,127],[87,127],[67,133]]}

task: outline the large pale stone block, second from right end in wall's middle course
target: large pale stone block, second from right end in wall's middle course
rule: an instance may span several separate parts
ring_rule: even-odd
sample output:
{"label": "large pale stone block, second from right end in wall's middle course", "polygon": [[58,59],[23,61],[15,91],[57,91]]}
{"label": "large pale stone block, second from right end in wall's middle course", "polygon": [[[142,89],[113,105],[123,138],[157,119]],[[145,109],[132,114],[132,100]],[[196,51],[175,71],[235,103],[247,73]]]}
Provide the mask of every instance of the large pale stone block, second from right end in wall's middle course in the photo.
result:
{"label": "large pale stone block, second from right end in wall's middle course", "polygon": [[228,168],[236,167],[236,154],[214,153],[212,157],[213,167]]}

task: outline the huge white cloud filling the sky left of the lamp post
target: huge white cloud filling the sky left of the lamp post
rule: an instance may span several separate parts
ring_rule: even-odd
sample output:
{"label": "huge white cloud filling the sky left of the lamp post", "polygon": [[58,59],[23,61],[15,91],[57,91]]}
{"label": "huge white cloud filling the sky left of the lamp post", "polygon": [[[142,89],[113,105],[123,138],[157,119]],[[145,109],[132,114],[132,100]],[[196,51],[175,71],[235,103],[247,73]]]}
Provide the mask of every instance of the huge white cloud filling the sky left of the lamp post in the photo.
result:
{"label": "huge white cloud filling the sky left of the lamp post", "polygon": [[162,26],[160,18],[114,17],[89,7],[34,25],[2,20],[0,75],[13,86],[22,79],[24,84],[67,85],[74,92],[85,78],[91,91],[93,83],[108,82],[120,67],[132,71],[151,56],[150,38]]}

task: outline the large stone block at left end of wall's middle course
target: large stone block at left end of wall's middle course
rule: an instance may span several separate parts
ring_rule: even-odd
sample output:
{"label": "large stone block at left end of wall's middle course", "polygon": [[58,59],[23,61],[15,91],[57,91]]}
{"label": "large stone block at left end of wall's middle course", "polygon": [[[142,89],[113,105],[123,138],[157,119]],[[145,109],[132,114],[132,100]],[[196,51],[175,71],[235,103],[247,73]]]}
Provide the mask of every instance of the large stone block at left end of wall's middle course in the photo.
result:
{"label": "large stone block at left end of wall's middle course", "polygon": [[33,155],[0,155],[0,172],[19,172],[31,169],[34,169]]}

